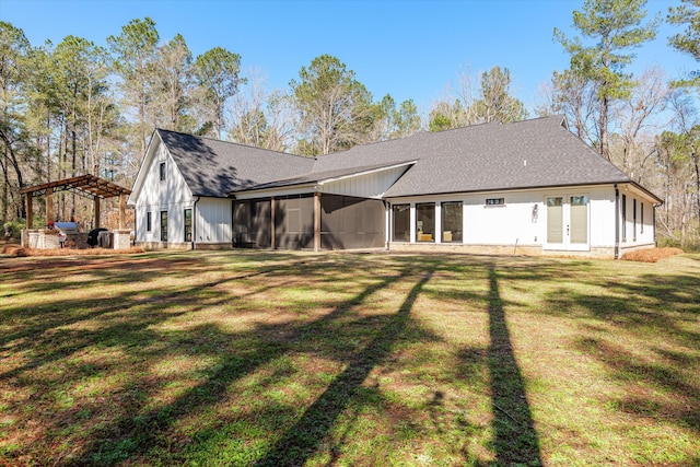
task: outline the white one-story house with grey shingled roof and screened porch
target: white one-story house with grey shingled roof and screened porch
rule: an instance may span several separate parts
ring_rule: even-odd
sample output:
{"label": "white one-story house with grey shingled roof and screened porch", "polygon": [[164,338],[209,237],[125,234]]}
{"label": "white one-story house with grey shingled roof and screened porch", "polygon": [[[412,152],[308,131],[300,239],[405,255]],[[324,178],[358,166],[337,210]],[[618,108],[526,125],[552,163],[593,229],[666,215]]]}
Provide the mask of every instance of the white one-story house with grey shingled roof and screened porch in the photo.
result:
{"label": "white one-story house with grey shingled roof and screened porch", "polygon": [[158,129],[128,202],[145,247],[617,258],[662,200],[553,116],[315,159]]}

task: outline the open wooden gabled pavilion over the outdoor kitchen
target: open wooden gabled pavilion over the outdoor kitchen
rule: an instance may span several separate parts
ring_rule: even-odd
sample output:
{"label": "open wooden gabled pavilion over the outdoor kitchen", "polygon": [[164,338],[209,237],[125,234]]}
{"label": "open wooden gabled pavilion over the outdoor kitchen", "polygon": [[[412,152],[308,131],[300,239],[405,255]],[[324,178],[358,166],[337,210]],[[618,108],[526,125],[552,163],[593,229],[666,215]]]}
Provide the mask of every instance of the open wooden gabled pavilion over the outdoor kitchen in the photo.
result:
{"label": "open wooden gabled pavilion over the outdoor kitchen", "polygon": [[22,188],[20,194],[26,195],[26,227],[33,229],[33,208],[32,201],[34,195],[46,196],[46,219],[54,220],[54,192],[55,191],[72,191],[77,195],[84,196],[94,200],[95,206],[95,227],[100,226],[100,200],[105,198],[119,197],[119,230],[126,229],[126,209],[127,196],[131,194],[130,189],[120,187],[109,180],[96,177],[94,175],[80,175],[78,177],[66,178],[62,180],[49,182],[47,184],[35,185]]}

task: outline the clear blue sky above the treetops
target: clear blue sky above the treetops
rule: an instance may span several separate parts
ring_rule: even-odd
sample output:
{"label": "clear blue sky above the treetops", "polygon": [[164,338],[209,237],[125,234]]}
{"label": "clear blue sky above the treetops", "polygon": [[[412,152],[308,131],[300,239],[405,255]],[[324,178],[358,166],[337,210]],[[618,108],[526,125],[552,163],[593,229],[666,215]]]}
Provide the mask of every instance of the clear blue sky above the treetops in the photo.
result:
{"label": "clear blue sky above the treetops", "polygon": [[[679,1],[651,0],[664,14]],[[105,45],[122,25],[150,16],[161,40],[180,33],[192,54],[221,46],[258,68],[267,87],[289,90],[302,66],[329,54],[355,72],[375,100],[389,93],[428,112],[460,71],[506,67],[513,93],[528,109],[540,83],[568,67],[553,27],[571,32],[571,12],[583,0],[0,0],[0,20],[22,28],[35,46],[75,35]],[[632,71],[660,66],[677,78],[696,69],[666,46],[675,33],[663,25],[654,43],[637,50]]]}

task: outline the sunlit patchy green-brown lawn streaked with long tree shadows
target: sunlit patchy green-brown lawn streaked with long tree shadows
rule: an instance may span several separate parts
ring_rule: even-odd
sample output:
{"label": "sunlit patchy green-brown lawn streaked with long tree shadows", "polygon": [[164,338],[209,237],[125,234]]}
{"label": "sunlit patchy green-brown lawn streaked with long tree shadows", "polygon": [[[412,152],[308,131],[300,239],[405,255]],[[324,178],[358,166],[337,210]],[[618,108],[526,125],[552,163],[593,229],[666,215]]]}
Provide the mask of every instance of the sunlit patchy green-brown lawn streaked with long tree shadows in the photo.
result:
{"label": "sunlit patchy green-brown lawn streaked with long tree shadows", "polygon": [[0,465],[698,466],[700,255],[0,257]]}

